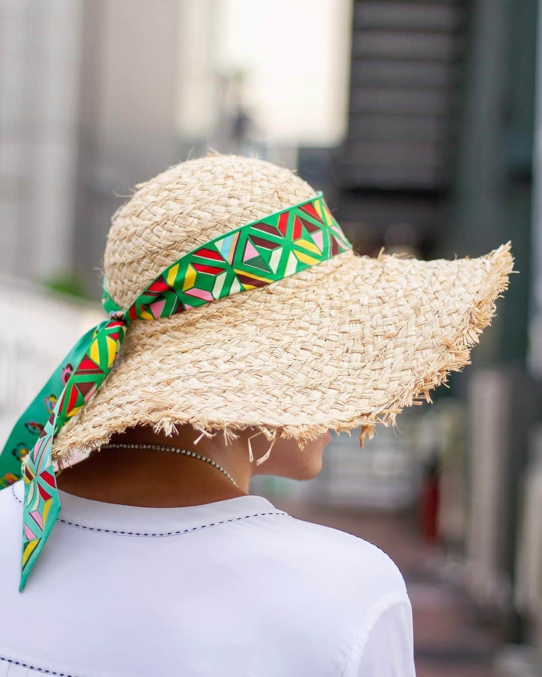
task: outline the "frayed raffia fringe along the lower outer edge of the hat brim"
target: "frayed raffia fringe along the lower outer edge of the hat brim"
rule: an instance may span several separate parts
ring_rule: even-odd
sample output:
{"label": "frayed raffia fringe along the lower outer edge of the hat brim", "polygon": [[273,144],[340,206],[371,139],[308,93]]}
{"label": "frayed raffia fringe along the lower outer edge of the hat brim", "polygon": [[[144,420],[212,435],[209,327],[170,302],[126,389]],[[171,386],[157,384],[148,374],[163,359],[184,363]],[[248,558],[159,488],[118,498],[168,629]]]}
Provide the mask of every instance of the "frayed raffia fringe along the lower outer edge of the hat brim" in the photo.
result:
{"label": "frayed raffia fringe along the lower outer edge of the hat brim", "polygon": [[[511,242],[502,244],[499,248],[482,258],[487,262],[488,274],[484,278],[484,284],[476,294],[470,311],[465,315],[463,326],[459,328],[453,340],[450,341],[443,337],[447,347],[446,359],[443,359],[440,364],[428,368],[426,374],[416,378],[410,387],[394,393],[392,399],[382,406],[380,410],[371,412],[371,414],[360,413],[353,418],[336,420],[329,424],[287,425],[284,427],[270,427],[265,424],[250,423],[233,425],[221,423],[219,420],[210,422],[191,416],[183,416],[181,412],[175,412],[174,414],[171,411],[171,401],[165,398],[163,401],[164,409],[160,411],[159,407],[156,407],[157,404],[160,404],[160,396],[156,393],[150,393],[150,397],[154,400],[154,406],[158,411],[148,414],[146,420],[142,421],[141,424],[150,425],[156,433],[163,433],[166,436],[173,435],[177,430],[177,426],[189,424],[199,433],[195,439],[222,433],[226,443],[231,442],[238,437],[239,433],[250,428],[264,435],[271,446],[277,437],[286,437],[288,439],[296,439],[300,443],[300,447],[305,442],[325,434],[328,430],[333,430],[336,433],[349,433],[352,429],[361,428],[359,442],[363,446],[366,437],[369,437],[369,439],[373,437],[377,424],[394,426],[397,414],[401,413],[403,408],[420,404],[424,400],[431,402],[430,391],[432,389],[446,383],[451,372],[461,371],[464,366],[470,364],[470,351],[479,342],[480,334],[484,328],[491,324],[496,311],[495,302],[501,296],[501,293],[507,289],[509,276],[514,272],[514,257],[512,257],[511,252]],[[76,452],[83,454],[92,453],[99,450],[101,445],[108,443],[112,435],[122,433],[127,428],[133,427],[134,424],[133,420],[116,420],[106,433],[102,433],[89,443],[70,443],[69,445],[64,445],[62,450],[54,450],[53,448],[53,458],[60,464],[64,464],[64,462],[69,462],[72,455]]]}

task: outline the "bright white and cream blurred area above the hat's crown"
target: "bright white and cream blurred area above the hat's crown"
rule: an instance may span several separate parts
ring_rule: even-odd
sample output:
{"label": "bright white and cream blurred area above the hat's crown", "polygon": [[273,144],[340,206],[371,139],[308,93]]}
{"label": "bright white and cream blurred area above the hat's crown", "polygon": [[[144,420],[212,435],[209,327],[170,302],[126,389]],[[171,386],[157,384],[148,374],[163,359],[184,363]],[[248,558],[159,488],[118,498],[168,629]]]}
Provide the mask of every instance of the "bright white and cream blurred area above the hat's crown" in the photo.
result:
{"label": "bright white and cream blurred area above the hat's crown", "polygon": [[352,0],[183,0],[181,135],[218,123],[220,80],[242,76],[254,134],[283,146],[334,146],[346,131]]}

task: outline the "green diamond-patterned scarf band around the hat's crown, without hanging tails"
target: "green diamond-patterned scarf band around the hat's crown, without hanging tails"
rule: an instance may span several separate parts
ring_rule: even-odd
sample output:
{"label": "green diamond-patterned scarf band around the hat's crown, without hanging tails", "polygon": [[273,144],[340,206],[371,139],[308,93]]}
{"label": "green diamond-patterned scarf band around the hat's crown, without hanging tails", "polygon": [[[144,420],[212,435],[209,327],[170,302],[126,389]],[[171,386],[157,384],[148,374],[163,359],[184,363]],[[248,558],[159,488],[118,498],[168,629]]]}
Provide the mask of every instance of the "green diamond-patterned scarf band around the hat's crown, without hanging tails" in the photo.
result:
{"label": "green diamond-patterned scarf band around the hat's crown, without hanging tails", "polygon": [[[351,248],[321,195],[208,242],[149,286],[129,317],[152,320],[276,282]],[[159,302],[159,303],[158,303]],[[121,309],[106,295],[108,311]]]}

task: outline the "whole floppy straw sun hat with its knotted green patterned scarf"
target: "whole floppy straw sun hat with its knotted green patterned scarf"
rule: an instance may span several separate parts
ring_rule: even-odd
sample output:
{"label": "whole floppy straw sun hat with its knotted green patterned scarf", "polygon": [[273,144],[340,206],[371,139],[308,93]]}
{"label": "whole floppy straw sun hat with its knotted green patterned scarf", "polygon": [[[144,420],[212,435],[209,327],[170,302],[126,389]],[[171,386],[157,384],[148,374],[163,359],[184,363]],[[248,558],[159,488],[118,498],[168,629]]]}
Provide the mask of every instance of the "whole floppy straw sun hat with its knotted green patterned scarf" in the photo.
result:
{"label": "whole floppy straw sun hat with its knotted green patterned scarf", "polygon": [[257,463],[277,435],[302,446],[361,427],[363,441],[468,364],[512,255],[357,257],[290,171],[208,156],[138,187],[114,215],[104,271],[108,319],[0,452],[0,489],[24,477],[20,590],[60,513],[53,460],[137,424],[227,439],[255,428],[269,439]]}

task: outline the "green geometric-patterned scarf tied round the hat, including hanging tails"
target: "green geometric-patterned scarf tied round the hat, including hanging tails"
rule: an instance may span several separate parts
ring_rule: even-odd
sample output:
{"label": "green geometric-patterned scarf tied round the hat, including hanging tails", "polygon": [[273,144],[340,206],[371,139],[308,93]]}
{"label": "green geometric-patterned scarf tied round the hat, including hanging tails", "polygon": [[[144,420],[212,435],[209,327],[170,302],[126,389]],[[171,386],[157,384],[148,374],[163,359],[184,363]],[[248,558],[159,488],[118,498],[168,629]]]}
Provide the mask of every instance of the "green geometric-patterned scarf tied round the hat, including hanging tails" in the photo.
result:
{"label": "green geometric-patterned scarf tied round the hat, including hanging tails", "polygon": [[0,454],[0,489],[24,477],[20,590],[60,512],[53,439],[104,383],[131,322],[168,318],[277,282],[349,248],[320,193],[194,249],[168,266],[127,310],[114,303],[104,283],[109,319],[66,355]]}

